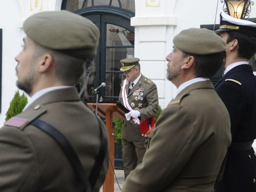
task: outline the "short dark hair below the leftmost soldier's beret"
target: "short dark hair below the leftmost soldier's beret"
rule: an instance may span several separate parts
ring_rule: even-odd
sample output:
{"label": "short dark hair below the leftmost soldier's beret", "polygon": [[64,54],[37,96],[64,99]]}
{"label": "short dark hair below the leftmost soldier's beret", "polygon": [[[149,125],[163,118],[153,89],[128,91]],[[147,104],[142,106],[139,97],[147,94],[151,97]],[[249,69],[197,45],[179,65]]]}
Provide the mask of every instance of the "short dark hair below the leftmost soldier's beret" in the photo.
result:
{"label": "short dark hair below the leftmost soldier's beret", "polygon": [[65,85],[75,85],[76,81],[83,74],[83,64],[85,61],[35,43],[33,57],[39,57],[44,53],[52,55],[57,78]]}

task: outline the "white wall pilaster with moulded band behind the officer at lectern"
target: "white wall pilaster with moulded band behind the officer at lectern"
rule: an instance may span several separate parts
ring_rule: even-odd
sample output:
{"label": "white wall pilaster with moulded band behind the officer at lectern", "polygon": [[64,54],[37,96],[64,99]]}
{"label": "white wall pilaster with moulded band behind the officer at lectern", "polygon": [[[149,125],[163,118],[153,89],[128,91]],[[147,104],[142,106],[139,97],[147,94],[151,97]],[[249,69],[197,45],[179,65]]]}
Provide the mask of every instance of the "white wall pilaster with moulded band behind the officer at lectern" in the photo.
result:
{"label": "white wall pilaster with moulded band behind the officer at lectern", "polygon": [[173,16],[176,0],[135,0],[135,57],[140,58],[141,72],[158,87],[159,103],[164,108],[175,94],[175,86],[166,80],[165,57],[172,46]]}

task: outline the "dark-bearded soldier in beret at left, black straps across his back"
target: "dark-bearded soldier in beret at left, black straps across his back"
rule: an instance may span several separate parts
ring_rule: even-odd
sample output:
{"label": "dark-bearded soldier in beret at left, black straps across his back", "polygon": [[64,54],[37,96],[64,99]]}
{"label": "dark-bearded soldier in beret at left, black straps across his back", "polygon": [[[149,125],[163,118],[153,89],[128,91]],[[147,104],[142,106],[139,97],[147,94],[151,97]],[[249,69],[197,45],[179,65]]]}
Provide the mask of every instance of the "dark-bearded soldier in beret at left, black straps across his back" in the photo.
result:
{"label": "dark-bearded soldier in beret at left, black straps across his back", "polygon": [[[58,129],[89,177],[101,133],[96,115],[73,85],[96,55],[98,29],[67,11],[36,13],[23,29],[24,48],[15,57],[17,87],[31,99],[21,114],[0,128],[0,192],[82,192],[58,143],[30,123],[37,119]],[[99,191],[107,168],[106,156],[93,192]]]}

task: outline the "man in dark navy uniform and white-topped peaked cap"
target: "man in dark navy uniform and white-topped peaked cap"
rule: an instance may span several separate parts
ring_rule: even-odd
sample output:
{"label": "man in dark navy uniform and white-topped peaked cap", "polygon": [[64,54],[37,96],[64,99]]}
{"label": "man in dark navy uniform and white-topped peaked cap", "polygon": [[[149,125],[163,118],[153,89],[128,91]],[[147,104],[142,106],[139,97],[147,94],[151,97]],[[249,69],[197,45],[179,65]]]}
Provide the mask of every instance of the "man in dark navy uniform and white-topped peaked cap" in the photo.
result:
{"label": "man in dark navy uniform and white-topped peaked cap", "polygon": [[217,33],[227,48],[224,76],[215,90],[230,115],[232,143],[216,192],[256,192],[256,77],[249,65],[256,53],[256,23],[221,13]]}

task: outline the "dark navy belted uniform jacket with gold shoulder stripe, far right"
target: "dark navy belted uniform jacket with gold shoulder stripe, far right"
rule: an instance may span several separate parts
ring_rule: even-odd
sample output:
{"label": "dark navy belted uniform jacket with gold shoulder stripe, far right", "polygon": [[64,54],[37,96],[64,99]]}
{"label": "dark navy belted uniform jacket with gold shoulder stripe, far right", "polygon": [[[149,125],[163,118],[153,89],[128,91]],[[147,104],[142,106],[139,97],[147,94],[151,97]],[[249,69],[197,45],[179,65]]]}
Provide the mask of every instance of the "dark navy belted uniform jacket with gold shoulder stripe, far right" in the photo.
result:
{"label": "dark navy belted uniform jacket with gold shoulder stripe, far right", "polygon": [[244,144],[256,139],[256,77],[252,66],[241,64],[232,68],[215,90],[229,112],[232,134],[224,177],[216,192],[256,192],[255,152],[253,148],[243,149]]}

